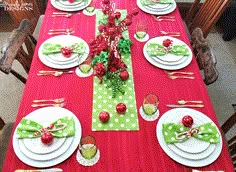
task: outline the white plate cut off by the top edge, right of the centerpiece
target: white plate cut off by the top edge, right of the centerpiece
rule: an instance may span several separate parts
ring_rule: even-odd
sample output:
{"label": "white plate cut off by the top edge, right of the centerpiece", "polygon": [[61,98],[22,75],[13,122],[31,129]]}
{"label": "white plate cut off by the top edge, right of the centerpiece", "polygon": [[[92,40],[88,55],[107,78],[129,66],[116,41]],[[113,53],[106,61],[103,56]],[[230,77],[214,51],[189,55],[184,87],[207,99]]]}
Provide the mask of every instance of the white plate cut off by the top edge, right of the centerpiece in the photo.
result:
{"label": "white plate cut off by the top edge, right of the centerpiece", "polygon": [[175,1],[166,10],[163,10],[163,9],[162,10],[150,10],[149,9],[150,7],[148,8],[148,7],[143,6],[141,4],[140,0],[137,0],[137,5],[142,11],[149,13],[149,14],[155,14],[155,15],[169,14],[176,9],[176,2]]}

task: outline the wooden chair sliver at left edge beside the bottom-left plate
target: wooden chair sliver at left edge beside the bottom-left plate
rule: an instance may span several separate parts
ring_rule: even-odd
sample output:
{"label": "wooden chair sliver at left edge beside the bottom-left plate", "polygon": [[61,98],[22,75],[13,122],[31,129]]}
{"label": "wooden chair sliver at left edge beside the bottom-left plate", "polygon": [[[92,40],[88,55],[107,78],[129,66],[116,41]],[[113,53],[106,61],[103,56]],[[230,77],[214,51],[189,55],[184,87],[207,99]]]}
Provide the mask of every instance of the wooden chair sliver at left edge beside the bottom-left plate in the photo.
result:
{"label": "wooden chair sliver at left edge beside the bottom-left plate", "polygon": [[14,123],[5,123],[0,117],[0,171],[6,156]]}

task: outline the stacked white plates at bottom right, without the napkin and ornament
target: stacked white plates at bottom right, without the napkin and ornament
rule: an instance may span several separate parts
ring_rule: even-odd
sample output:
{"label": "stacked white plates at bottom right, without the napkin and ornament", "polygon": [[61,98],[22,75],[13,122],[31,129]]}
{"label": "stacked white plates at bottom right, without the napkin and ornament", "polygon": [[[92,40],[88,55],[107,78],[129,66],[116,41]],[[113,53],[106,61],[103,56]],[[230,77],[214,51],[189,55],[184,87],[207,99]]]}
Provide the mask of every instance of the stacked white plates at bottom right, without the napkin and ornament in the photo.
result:
{"label": "stacked white plates at bottom right, without the napkin and ornament", "polygon": [[183,144],[183,146],[179,146],[178,144],[165,143],[162,133],[162,124],[169,122],[181,123],[181,120],[185,115],[190,115],[193,118],[194,120],[194,124],[192,126],[193,128],[204,123],[208,122],[213,123],[213,121],[210,118],[208,118],[205,114],[196,111],[194,109],[189,109],[189,108],[171,109],[166,113],[164,113],[160,117],[157,123],[156,134],[160,146],[169,157],[171,157],[173,160],[175,160],[180,164],[191,167],[203,167],[211,164],[219,157],[222,151],[222,137],[220,135],[220,131],[218,130],[217,126],[214,123],[213,124],[216,126],[217,131],[219,133],[219,143],[217,144],[210,144],[210,143],[205,144],[204,141],[200,141],[193,137],[189,138],[185,142],[178,143],[178,144]]}

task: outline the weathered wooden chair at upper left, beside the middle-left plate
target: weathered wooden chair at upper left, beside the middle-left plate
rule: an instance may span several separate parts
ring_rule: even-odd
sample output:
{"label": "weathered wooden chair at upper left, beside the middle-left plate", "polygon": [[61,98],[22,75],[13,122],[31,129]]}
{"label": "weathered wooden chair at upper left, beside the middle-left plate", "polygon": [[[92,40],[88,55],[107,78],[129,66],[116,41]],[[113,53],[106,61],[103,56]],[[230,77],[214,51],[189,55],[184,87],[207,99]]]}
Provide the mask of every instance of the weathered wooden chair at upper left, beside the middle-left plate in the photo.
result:
{"label": "weathered wooden chair at upper left, beside the middle-left plate", "polygon": [[6,74],[12,73],[23,83],[26,78],[12,68],[14,60],[18,60],[28,73],[32,62],[36,39],[30,34],[30,22],[22,20],[19,28],[12,31],[7,43],[2,47],[0,58],[0,70]]}

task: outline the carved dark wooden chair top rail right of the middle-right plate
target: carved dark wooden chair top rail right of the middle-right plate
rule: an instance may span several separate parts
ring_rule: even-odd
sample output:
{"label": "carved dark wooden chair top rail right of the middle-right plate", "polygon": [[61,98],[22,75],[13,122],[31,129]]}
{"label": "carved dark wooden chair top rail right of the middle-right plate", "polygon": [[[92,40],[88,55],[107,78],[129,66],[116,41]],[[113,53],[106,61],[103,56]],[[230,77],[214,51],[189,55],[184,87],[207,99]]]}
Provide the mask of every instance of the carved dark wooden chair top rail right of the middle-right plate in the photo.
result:
{"label": "carved dark wooden chair top rail right of the middle-right plate", "polygon": [[212,84],[217,80],[219,75],[216,69],[217,61],[212,53],[209,41],[203,37],[203,32],[200,28],[193,30],[191,34],[191,44],[197,58],[198,66],[204,71],[205,84]]}

